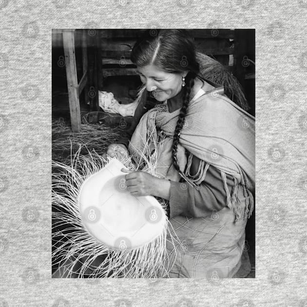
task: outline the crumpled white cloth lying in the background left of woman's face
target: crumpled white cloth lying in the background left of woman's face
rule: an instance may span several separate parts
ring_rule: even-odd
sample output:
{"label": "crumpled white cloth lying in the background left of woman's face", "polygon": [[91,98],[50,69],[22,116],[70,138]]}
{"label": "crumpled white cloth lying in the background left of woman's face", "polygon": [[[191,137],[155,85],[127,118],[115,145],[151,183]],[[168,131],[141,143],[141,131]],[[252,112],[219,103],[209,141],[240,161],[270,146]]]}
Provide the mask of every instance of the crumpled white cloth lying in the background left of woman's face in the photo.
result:
{"label": "crumpled white cloth lying in the background left of woman's face", "polygon": [[113,93],[98,91],[99,107],[108,113],[116,113],[122,116],[133,116],[137,107],[138,101],[132,103],[120,104]]}

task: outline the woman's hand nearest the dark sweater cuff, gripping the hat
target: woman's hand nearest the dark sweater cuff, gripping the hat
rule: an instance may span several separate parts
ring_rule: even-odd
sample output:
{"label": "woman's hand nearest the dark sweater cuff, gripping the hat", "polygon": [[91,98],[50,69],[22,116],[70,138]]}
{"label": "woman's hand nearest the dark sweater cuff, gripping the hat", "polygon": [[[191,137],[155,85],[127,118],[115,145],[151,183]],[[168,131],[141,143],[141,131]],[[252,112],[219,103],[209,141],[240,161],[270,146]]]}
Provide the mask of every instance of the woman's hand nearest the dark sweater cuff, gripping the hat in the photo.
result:
{"label": "woman's hand nearest the dark sweater cuff, gripping the hat", "polygon": [[132,172],[126,169],[121,169],[126,175],[127,190],[134,196],[153,195],[164,199],[170,199],[169,180],[160,179],[153,175],[137,171]]}

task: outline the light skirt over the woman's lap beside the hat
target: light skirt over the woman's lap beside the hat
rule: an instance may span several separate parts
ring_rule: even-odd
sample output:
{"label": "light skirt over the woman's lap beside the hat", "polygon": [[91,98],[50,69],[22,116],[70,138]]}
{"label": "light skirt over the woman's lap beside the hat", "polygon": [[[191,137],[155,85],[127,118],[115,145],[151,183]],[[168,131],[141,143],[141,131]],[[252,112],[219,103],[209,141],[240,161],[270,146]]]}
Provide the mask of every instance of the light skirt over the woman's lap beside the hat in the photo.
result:
{"label": "light skirt over the woman's lap beside the hat", "polygon": [[167,243],[169,257],[176,257],[169,277],[210,278],[212,272],[219,278],[234,277],[241,266],[246,221],[234,223],[234,214],[227,207],[204,218],[170,219],[181,245],[173,249]]}

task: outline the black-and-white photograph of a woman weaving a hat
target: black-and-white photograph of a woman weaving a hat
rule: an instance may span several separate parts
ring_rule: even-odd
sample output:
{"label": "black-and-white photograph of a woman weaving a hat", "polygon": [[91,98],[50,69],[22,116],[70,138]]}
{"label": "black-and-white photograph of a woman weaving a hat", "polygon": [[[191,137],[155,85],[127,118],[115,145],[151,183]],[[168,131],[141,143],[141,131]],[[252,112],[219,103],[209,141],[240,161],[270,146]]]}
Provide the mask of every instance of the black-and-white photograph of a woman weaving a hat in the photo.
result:
{"label": "black-and-white photograph of a woman weaving a hat", "polygon": [[255,29],[52,29],[52,278],[255,278],[255,190]]}

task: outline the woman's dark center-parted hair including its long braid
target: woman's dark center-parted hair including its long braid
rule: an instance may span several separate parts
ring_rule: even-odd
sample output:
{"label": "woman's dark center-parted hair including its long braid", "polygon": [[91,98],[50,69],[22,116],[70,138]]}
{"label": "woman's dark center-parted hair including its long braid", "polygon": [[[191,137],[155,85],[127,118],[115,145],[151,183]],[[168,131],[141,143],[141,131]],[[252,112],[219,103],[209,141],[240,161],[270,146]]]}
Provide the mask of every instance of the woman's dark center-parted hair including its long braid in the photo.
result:
{"label": "woman's dark center-parted hair including its long braid", "polygon": [[186,85],[181,89],[184,98],[174,131],[172,148],[173,166],[184,177],[177,162],[177,146],[187,114],[194,78],[199,74],[193,38],[184,29],[148,29],[134,44],[131,60],[136,66],[144,67],[154,64],[168,73],[183,75],[184,72],[188,72],[185,77]]}

